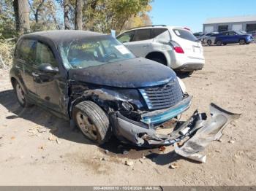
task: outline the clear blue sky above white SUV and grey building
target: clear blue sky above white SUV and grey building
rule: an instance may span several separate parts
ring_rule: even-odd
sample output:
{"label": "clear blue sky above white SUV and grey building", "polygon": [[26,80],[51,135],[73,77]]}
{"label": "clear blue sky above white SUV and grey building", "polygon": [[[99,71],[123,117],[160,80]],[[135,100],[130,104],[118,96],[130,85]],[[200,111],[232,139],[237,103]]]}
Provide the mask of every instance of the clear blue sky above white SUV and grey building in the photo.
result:
{"label": "clear blue sky above white SUV and grey building", "polygon": [[149,12],[154,25],[186,26],[203,31],[209,17],[256,15],[256,0],[154,0]]}

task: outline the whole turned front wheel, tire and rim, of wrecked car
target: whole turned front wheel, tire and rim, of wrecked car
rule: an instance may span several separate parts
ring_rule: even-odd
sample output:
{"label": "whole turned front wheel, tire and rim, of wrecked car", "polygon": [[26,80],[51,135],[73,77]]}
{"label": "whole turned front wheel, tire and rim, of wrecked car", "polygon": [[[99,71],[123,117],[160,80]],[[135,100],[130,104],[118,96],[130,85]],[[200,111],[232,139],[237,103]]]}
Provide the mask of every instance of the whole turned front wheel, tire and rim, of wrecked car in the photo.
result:
{"label": "whole turned front wheel, tire and rim, of wrecked car", "polygon": [[75,105],[72,118],[87,139],[103,144],[110,137],[110,122],[107,114],[94,102],[82,101]]}

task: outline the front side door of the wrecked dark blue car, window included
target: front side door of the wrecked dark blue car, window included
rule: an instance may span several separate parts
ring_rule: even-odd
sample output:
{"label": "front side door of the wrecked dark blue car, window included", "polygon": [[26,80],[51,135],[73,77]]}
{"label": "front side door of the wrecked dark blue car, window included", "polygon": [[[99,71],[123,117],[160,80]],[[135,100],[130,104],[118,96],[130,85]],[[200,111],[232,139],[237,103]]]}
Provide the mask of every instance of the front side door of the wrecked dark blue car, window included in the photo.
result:
{"label": "front side door of the wrecked dark blue car, window included", "polygon": [[[37,42],[36,61],[34,64],[34,84],[37,89],[40,104],[52,109],[56,112],[63,113],[61,109],[62,103],[62,88],[60,74],[48,73],[40,70],[42,64],[50,64],[53,68],[59,69],[59,64],[56,61],[56,56],[48,44],[44,42]],[[56,70],[57,70],[56,69]]]}

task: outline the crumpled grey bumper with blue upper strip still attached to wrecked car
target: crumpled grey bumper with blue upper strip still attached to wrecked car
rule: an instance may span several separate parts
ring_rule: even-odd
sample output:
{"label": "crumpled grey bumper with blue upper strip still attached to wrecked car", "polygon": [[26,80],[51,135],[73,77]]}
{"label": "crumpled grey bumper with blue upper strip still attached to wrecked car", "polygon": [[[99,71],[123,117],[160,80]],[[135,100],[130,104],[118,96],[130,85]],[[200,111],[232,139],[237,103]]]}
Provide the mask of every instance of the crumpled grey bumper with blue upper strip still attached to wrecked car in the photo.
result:
{"label": "crumpled grey bumper with blue upper strip still attached to wrecked car", "polygon": [[[188,96],[175,106],[168,109],[161,109],[141,115],[141,121],[135,122],[124,117],[120,112],[111,115],[114,133],[122,141],[136,144],[140,147],[149,145],[173,144],[175,139],[181,138],[179,135],[161,135],[156,133],[157,125],[162,124],[176,117],[178,114],[189,109],[192,97]],[[175,138],[174,138],[175,136]]]}

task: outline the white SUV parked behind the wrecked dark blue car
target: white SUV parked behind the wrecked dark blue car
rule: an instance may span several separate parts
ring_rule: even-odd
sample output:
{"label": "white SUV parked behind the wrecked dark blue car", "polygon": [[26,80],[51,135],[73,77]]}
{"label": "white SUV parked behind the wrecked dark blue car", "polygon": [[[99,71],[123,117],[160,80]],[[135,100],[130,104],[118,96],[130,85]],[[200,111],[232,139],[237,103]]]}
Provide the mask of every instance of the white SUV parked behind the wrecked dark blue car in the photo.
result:
{"label": "white SUV parked behind the wrecked dark blue car", "polygon": [[188,28],[146,26],[132,28],[116,37],[136,56],[192,74],[203,69],[205,58],[200,41]]}

